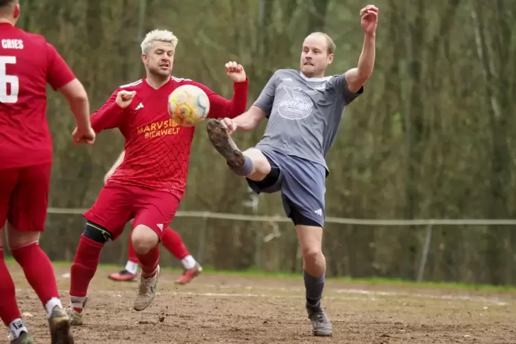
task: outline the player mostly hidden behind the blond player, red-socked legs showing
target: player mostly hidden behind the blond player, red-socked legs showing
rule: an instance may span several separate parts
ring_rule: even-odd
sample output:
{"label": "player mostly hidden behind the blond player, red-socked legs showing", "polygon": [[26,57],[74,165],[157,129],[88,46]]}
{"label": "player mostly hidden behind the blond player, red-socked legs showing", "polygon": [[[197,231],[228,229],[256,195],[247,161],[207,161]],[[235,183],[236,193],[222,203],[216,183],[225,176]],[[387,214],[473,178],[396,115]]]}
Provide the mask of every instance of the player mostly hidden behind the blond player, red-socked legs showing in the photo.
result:
{"label": "player mostly hidden behind the blond player, red-socked legs showing", "polygon": [[[122,151],[119,158],[116,159],[113,166],[109,169],[106,175],[104,175],[104,184],[108,182],[116,168],[119,167],[123,162],[124,156],[125,151]],[[132,220],[130,223],[132,223]],[[183,265],[183,275],[179,280],[175,281],[175,283],[187,284],[201,274],[201,265],[199,265],[199,263],[196,262],[193,256],[188,252],[188,249],[186,249],[186,246],[184,245],[179,233],[175,232],[175,230],[170,227],[164,228],[163,236],[161,237],[161,243],[167,249],[167,251],[169,251],[175,258],[177,258],[177,260],[180,260],[181,264]],[[114,281],[136,281],[137,273],[138,256],[136,256],[132,241],[129,239],[127,247],[127,263],[125,263],[124,269],[120,272],[112,273],[109,275],[109,278],[110,280]]]}

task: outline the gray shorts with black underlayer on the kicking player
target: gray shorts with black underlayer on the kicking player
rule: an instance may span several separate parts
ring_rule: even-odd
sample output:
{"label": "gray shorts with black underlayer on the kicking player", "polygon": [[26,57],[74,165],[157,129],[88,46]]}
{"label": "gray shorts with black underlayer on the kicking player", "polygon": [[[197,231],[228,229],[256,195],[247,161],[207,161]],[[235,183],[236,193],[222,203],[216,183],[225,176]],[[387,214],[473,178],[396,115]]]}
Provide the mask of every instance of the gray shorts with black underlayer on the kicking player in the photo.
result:
{"label": "gray shorts with black underlayer on the kicking player", "polygon": [[[247,183],[255,193],[275,193],[281,191],[283,208],[286,216],[295,224],[299,217],[310,219],[313,225],[324,226],[325,219],[325,179],[326,169],[321,164],[310,160],[288,156],[271,149],[260,151],[271,164],[278,177],[265,177],[261,182],[247,178]],[[312,225],[312,223],[308,223]],[[300,223],[305,224],[305,223]]]}

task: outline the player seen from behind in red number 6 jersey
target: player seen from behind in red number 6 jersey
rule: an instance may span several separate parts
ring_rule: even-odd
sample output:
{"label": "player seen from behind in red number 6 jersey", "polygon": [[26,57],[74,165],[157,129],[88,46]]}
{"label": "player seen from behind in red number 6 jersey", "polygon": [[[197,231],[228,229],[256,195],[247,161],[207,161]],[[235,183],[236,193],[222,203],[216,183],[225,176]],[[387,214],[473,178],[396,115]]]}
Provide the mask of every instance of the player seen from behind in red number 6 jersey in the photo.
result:
{"label": "player seen from behind in red number 6 jersey", "polygon": [[74,143],[93,143],[88,96],[45,38],[16,28],[18,0],[0,0],[0,318],[11,343],[34,343],[16,303],[3,258],[7,245],[45,310],[51,343],[73,343],[51,262],[39,247],[45,228],[52,163],[46,118],[47,84],[59,90],[75,115]]}

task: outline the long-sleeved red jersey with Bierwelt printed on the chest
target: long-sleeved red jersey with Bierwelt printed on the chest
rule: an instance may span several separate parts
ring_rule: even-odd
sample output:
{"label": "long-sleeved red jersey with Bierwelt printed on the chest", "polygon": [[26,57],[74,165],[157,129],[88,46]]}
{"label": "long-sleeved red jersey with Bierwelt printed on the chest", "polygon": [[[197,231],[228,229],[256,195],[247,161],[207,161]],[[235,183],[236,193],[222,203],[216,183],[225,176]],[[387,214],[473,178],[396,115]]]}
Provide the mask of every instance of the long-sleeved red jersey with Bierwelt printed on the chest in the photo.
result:
{"label": "long-sleeved red jersey with Bierwelt printed on the chest", "polygon": [[[202,84],[175,77],[157,90],[147,84],[145,78],[116,88],[108,101],[91,116],[95,132],[117,127],[125,137],[125,157],[110,182],[167,191],[182,199],[195,127],[174,123],[167,106],[172,91],[186,84],[206,92],[210,99],[208,117],[234,118],[245,112],[248,80],[234,84],[231,101]],[[116,94],[120,90],[136,91],[125,109],[116,104]]]}

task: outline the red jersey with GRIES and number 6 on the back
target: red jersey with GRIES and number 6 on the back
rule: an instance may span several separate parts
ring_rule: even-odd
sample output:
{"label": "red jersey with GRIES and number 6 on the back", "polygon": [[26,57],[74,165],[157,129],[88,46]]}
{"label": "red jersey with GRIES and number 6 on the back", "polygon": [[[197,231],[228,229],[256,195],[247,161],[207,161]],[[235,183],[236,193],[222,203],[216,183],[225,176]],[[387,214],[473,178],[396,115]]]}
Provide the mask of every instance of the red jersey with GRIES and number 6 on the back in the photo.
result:
{"label": "red jersey with GRIES and number 6 on the back", "polygon": [[47,83],[56,90],[73,79],[43,36],[0,23],[0,169],[52,161]]}

